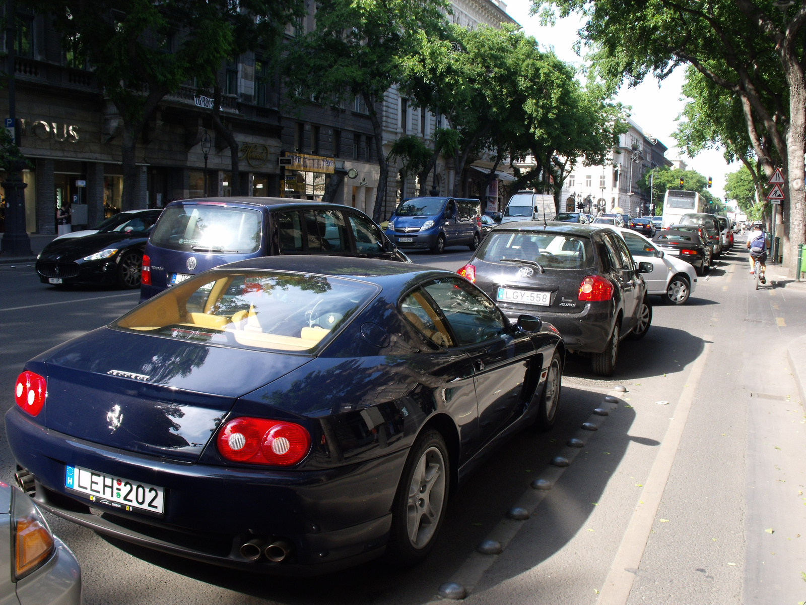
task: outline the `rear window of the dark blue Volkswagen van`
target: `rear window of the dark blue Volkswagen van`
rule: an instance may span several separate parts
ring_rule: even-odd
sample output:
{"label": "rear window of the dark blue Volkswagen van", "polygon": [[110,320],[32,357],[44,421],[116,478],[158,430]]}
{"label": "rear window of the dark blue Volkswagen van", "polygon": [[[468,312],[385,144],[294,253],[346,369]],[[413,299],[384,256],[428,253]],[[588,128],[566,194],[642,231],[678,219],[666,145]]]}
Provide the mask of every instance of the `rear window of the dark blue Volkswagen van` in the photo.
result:
{"label": "rear window of the dark blue Volkswagen van", "polygon": [[166,208],[151,236],[160,248],[184,252],[241,254],[260,248],[260,211],[249,208],[188,204]]}

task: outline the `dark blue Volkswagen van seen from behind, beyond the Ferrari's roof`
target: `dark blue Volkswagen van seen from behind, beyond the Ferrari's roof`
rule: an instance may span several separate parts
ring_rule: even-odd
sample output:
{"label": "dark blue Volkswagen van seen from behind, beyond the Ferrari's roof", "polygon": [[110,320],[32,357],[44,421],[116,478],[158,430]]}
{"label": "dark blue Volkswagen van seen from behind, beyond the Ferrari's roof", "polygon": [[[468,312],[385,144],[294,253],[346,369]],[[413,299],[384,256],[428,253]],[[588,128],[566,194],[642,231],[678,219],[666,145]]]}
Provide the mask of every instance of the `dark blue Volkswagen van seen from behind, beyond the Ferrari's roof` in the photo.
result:
{"label": "dark blue Volkswagen van seen from behind, beyond the Ferrari's roof", "polygon": [[411,262],[355,208],[289,198],[197,198],[169,203],[143,252],[140,302],[235,261],[322,254]]}

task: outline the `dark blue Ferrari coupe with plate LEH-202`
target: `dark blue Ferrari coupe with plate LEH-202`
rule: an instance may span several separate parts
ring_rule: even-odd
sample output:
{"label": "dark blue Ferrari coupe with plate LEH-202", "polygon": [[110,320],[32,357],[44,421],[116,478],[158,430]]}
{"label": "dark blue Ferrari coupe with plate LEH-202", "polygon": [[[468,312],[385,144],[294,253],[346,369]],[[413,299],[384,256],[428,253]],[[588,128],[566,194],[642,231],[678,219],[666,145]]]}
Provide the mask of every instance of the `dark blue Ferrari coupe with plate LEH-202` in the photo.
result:
{"label": "dark blue Ferrari coupe with plate LEH-202", "polygon": [[6,431],[36,503],[107,536],[277,574],[409,565],[492,449],[554,424],[564,356],[455,273],[255,258],[28,361]]}

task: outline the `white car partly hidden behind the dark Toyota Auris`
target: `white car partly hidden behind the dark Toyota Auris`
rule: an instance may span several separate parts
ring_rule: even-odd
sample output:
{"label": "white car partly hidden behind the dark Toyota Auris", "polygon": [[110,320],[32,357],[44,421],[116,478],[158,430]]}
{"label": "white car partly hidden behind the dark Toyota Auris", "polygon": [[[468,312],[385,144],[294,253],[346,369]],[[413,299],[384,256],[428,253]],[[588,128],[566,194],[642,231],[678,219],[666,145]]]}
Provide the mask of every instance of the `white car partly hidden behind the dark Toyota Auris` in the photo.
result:
{"label": "white car partly hidden behind the dark Toyota Auris", "polygon": [[659,294],[664,303],[684,305],[694,294],[697,274],[692,265],[655,246],[652,241],[632,229],[615,227],[636,262],[649,262],[652,270],[642,273],[649,294]]}

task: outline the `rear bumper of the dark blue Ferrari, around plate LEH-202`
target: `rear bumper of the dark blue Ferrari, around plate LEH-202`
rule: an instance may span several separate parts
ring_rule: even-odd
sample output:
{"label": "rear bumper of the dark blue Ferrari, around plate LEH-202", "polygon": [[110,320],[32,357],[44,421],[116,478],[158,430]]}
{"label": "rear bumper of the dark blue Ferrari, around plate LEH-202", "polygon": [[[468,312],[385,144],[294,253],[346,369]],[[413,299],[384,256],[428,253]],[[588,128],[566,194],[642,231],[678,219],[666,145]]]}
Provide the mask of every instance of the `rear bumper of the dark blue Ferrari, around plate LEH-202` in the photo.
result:
{"label": "rear bumper of the dark blue Ferrari, around plate LEH-202", "polygon": [[[78,440],[16,407],[6,413],[6,432],[19,465],[35,476],[36,502],[53,514],[165,553],[267,574],[322,574],[380,556],[408,453],[315,471],[189,464]],[[65,465],[162,486],[165,514],[125,513],[69,492]],[[249,561],[239,548],[251,537],[285,539],[293,554],[281,563]]]}

